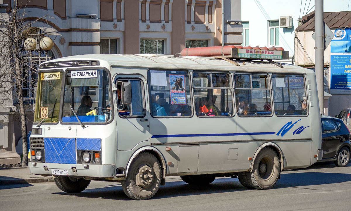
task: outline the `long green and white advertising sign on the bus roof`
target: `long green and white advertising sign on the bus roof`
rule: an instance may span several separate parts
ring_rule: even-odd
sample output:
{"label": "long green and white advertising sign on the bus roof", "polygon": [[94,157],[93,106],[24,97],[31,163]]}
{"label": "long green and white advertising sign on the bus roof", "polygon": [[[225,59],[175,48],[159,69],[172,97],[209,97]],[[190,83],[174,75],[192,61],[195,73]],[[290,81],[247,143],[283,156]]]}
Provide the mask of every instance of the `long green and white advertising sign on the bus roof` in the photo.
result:
{"label": "long green and white advertising sign on the bus roof", "polygon": [[253,59],[283,59],[281,50],[238,49],[238,57]]}

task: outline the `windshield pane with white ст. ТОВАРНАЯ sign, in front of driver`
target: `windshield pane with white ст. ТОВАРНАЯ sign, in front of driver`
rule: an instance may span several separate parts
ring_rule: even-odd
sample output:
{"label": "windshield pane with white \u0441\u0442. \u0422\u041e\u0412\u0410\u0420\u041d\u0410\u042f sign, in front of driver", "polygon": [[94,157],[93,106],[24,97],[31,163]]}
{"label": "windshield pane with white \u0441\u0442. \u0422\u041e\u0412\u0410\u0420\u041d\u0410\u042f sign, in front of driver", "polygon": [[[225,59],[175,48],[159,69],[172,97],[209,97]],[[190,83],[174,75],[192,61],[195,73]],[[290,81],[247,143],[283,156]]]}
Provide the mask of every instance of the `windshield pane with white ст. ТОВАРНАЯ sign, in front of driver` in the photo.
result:
{"label": "windshield pane with white \u0441\u0442. \u0422\u041e\u0412\u0410\u0420\u041d\u0410\u042f sign, in front of driver", "polygon": [[106,70],[66,71],[62,122],[78,122],[77,117],[81,122],[110,120],[111,105],[108,86]]}

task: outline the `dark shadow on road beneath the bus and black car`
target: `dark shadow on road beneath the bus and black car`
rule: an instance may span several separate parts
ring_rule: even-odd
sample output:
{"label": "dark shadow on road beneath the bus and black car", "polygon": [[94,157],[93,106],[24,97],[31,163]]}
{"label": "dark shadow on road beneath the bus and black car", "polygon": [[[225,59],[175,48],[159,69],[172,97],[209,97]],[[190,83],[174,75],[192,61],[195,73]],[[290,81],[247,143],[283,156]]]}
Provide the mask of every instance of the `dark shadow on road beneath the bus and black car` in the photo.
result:
{"label": "dark shadow on road beneath the bus and black car", "polygon": [[[281,175],[278,183],[274,186],[277,188],[302,187],[310,185],[334,184],[351,181],[351,174],[345,173],[324,173],[324,172],[298,172],[284,173]],[[161,186],[155,197],[170,198],[176,196],[202,195],[219,192],[234,191],[259,191],[244,188],[238,181],[233,178],[217,178],[209,185],[189,185],[183,181],[167,182],[165,186]],[[123,192],[119,184],[108,185],[106,188],[88,189],[77,194],[54,193],[58,195],[71,195],[87,198],[106,198],[115,200],[130,200]]]}

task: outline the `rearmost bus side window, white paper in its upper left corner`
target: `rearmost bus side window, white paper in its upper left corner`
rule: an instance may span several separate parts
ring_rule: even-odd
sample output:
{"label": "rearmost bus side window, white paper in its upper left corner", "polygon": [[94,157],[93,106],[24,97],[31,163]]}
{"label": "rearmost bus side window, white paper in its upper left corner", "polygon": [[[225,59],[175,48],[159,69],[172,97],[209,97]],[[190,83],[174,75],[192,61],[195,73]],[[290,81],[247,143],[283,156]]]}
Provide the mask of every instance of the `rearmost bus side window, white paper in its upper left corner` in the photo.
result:
{"label": "rearmost bus side window, white paper in its upper left corner", "polygon": [[274,109],[277,116],[307,115],[305,82],[300,74],[272,74]]}

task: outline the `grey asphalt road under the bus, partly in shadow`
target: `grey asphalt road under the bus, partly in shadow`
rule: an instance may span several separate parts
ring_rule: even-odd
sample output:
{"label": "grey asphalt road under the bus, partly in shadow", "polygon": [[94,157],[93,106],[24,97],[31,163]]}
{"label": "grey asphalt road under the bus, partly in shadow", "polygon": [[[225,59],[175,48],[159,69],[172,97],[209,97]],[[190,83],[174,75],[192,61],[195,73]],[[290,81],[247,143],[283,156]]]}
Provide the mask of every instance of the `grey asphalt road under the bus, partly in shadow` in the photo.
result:
{"label": "grey asphalt road under the bus, partly in shadow", "polygon": [[206,186],[170,177],[156,195],[129,199],[120,183],[92,181],[79,194],[61,192],[55,183],[0,185],[0,210],[351,210],[351,164],[332,162],[284,171],[271,190],[244,188],[237,178],[219,178]]}

